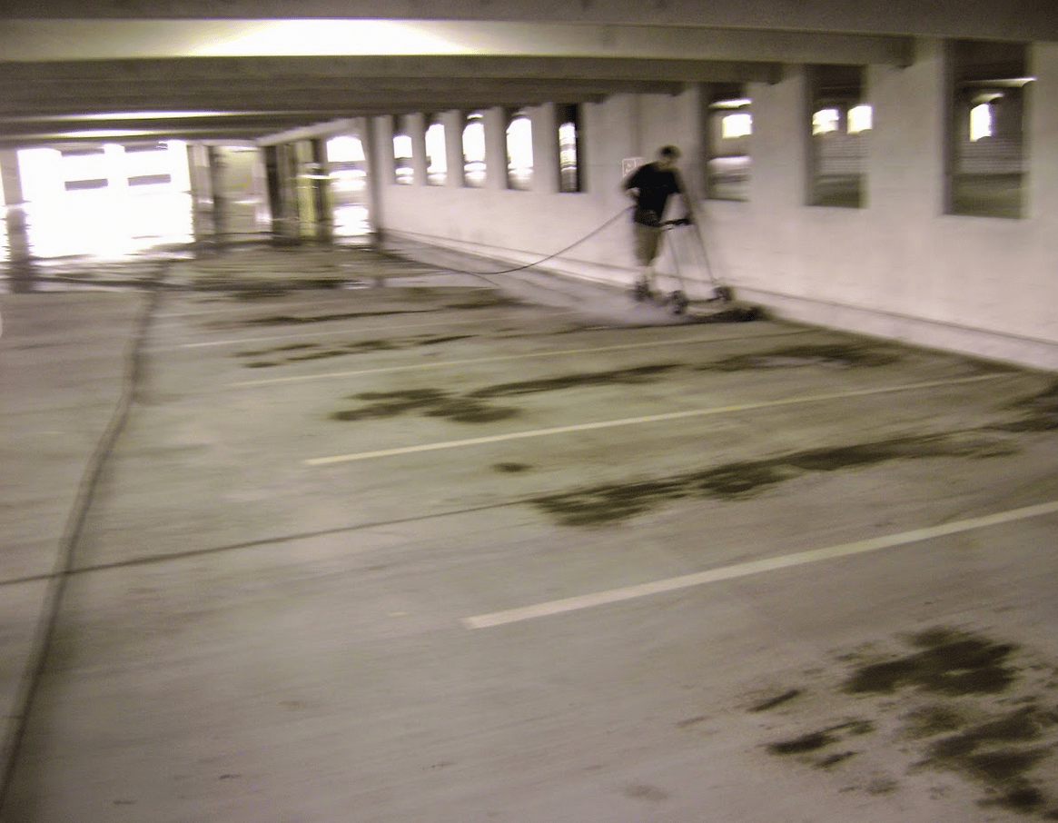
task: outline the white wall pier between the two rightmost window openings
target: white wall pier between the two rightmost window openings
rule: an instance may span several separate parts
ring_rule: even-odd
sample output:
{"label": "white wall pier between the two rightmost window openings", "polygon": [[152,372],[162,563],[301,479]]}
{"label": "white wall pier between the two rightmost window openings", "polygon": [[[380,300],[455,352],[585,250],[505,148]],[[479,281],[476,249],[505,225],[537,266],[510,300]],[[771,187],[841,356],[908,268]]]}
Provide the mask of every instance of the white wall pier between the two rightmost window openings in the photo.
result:
{"label": "white wall pier between the two rightmost window openings", "polygon": [[869,67],[869,208],[923,220],[947,211],[954,148],[948,51],[941,40],[923,39],[908,68]]}

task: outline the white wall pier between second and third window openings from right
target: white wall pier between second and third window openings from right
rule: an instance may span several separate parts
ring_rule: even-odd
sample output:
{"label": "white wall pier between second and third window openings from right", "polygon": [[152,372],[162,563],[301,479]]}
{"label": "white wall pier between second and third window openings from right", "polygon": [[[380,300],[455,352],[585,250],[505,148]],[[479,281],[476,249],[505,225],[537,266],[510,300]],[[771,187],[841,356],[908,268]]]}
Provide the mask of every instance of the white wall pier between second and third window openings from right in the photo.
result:
{"label": "white wall pier between second and third window openings from right", "polygon": [[811,116],[805,67],[787,66],[779,83],[751,84],[753,169],[749,200],[755,211],[804,205],[808,195]]}

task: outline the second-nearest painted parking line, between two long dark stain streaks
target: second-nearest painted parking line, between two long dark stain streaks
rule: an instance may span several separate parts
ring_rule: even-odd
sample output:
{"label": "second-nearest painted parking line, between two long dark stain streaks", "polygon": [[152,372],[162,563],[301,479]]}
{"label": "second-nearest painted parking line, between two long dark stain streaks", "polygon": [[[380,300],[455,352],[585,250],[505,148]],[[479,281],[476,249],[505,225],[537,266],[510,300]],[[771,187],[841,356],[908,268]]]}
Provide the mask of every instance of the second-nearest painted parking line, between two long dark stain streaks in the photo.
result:
{"label": "second-nearest painted parking line, between two long dark stain streaks", "polygon": [[330,457],[312,457],[304,461],[306,465],[327,465],[329,463],[348,463],[357,460],[371,460],[378,457],[396,457],[398,455],[417,454],[419,452],[436,452],[442,449],[461,449],[471,445],[484,445],[486,443],[501,443],[508,440],[523,440],[531,437],[548,437],[550,435],[566,435],[573,432],[594,432],[600,428],[613,428],[614,426],[640,425],[643,423],[659,423],[667,420],[681,420],[689,417],[706,417],[709,415],[726,415],[733,412],[752,412],[759,408],[774,408],[777,406],[792,406],[802,403],[821,403],[827,400],[844,400],[855,397],[869,397],[871,395],[888,395],[896,391],[914,391],[923,388],[943,388],[946,386],[957,386],[964,383],[981,383],[986,380],[1007,378],[1010,373],[1001,374],[975,374],[969,378],[954,378],[952,380],[934,380],[926,383],[908,383],[900,386],[881,386],[879,388],[864,388],[857,391],[834,391],[825,395],[806,395],[804,397],[784,398],[783,400],[768,400],[761,403],[737,403],[730,406],[714,406],[712,408],[690,408],[683,412],[668,412],[662,415],[646,415],[643,417],[626,417],[619,420],[600,420],[595,423],[577,423],[568,426],[555,426],[553,428],[533,428],[526,432],[510,432],[506,435],[491,435],[488,437],[472,437],[467,440],[442,440],[436,443],[421,443],[419,445],[407,445],[398,449],[383,449],[377,452],[354,452],[346,455],[332,455]]}

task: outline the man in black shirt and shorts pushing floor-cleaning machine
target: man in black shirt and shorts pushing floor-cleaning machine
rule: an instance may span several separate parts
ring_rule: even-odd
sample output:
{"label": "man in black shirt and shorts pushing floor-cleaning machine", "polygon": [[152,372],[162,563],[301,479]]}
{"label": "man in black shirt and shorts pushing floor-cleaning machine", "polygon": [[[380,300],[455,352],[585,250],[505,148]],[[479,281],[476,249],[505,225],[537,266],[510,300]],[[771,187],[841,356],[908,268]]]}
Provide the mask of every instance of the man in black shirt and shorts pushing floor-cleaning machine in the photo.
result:
{"label": "man in black shirt and shorts pushing floor-cleaning machine", "polygon": [[683,199],[686,215],[682,219],[687,220],[691,215],[691,201],[676,168],[678,160],[679,149],[676,146],[662,146],[658,149],[657,160],[640,166],[624,181],[624,191],[636,204],[632,226],[636,260],[642,270],[636,285],[636,295],[640,298],[654,290],[654,260],[661,249],[661,220],[670,196],[679,195]]}

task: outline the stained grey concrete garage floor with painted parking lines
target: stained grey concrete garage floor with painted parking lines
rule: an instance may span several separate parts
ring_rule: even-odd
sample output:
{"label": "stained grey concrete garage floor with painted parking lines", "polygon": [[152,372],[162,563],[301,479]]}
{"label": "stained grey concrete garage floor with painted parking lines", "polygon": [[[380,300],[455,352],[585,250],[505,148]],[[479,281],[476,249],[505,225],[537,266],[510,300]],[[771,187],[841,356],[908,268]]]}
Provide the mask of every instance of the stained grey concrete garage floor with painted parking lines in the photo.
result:
{"label": "stained grey concrete garage floor with painted parking lines", "polygon": [[364,250],[52,275],[4,823],[1058,819],[1053,374]]}

